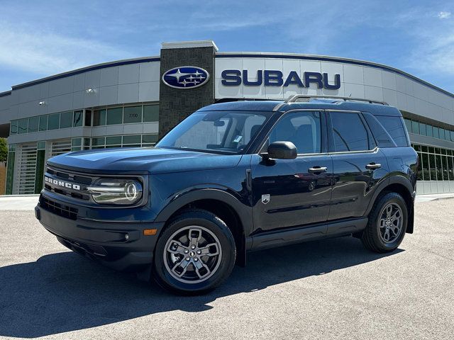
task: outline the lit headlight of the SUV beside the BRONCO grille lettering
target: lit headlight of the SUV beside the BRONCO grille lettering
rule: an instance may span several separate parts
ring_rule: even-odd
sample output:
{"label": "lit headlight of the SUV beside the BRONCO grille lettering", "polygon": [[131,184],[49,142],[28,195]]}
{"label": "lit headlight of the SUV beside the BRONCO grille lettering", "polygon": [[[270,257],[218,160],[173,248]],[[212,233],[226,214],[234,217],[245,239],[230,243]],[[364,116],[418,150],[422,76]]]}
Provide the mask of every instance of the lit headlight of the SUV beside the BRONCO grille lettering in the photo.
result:
{"label": "lit headlight of the SUV beside the BRONCO grille lettering", "polygon": [[132,205],[142,198],[142,184],[133,179],[99,179],[88,191],[100,204]]}

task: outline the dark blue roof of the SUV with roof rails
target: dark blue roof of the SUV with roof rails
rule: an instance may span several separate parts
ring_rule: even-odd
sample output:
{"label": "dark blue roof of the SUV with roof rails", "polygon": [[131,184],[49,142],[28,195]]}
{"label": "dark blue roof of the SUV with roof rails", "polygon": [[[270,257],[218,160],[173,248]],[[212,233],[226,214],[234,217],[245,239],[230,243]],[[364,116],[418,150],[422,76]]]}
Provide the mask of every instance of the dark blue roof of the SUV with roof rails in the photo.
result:
{"label": "dark blue roof of the SUV with roof rails", "polygon": [[201,108],[199,111],[275,111],[287,112],[289,110],[314,109],[314,110],[342,110],[370,112],[372,115],[392,115],[401,117],[394,106],[381,103],[368,103],[367,101],[348,101],[344,99],[311,98],[309,101],[229,101],[215,103]]}

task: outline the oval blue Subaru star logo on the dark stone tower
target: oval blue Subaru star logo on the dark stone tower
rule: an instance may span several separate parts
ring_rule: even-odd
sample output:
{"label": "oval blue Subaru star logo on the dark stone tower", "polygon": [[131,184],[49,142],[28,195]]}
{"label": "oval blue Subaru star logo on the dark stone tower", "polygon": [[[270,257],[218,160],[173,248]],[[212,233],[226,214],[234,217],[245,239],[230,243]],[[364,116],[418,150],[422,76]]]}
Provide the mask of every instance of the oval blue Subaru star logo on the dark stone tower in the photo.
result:
{"label": "oval blue Subaru star logo on the dark stone tower", "polygon": [[210,74],[200,67],[182,66],[170,69],[162,75],[162,81],[174,89],[194,89],[202,86]]}

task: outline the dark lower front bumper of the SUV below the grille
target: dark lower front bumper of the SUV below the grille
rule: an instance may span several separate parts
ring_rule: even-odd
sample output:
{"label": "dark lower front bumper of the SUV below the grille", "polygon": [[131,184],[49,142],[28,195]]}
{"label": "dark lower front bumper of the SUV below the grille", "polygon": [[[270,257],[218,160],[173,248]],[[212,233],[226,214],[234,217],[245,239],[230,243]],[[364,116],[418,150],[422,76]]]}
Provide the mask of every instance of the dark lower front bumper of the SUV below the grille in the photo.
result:
{"label": "dark lower front bumper of the SUV below the grille", "polygon": [[[43,204],[42,199],[43,196],[35,207],[36,218],[45,229],[55,234],[60,243],[72,251],[119,271],[141,271],[153,263],[153,251],[163,222],[86,220],[65,213],[64,208],[60,210],[45,208],[49,205]],[[77,208],[53,198],[52,202],[60,207]],[[144,229],[157,229],[157,233],[144,236]]]}

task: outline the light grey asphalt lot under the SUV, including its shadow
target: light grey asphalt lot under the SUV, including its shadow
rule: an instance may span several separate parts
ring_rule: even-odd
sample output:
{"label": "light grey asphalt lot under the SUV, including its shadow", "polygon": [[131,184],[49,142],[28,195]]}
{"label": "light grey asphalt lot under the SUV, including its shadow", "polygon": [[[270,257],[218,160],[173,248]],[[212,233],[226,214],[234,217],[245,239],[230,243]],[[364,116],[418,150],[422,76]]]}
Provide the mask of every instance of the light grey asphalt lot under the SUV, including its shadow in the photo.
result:
{"label": "light grey asphalt lot under the SUV, including its shadow", "polygon": [[453,210],[416,203],[392,254],[352,237],[250,253],[199,297],[68,251],[32,210],[1,210],[0,338],[454,339]]}

